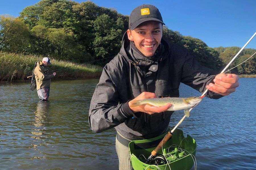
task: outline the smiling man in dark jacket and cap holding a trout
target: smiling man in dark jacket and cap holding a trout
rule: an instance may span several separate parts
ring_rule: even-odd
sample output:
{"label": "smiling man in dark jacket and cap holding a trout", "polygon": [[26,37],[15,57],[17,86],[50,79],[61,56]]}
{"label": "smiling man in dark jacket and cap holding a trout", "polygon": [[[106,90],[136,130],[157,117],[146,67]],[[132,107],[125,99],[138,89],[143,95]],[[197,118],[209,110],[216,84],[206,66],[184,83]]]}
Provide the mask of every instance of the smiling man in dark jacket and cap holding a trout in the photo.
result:
{"label": "smiling man in dark jacket and cap holding a trout", "polygon": [[[153,5],[140,5],[129,18],[129,29],[117,56],[106,64],[92,96],[89,124],[94,132],[115,128],[119,170],[128,169],[132,140],[149,139],[168,132],[173,111],[141,105],[130,107],[131,100],[179,97],[184,83],[218,99],[238,87],[235,74],[217,74],[201,66],[187,50],[162,38],[164,24]],[[131,168],[132,169],[132,168]]]}

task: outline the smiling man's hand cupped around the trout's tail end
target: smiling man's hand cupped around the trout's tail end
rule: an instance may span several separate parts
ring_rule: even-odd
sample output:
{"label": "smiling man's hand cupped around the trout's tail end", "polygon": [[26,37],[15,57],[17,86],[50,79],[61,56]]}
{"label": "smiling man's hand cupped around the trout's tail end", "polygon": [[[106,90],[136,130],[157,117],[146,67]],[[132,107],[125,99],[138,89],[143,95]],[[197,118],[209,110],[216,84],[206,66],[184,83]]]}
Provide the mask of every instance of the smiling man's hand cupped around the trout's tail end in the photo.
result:
{"label": "smiling man's hand cupped around the trout's tail end", "polygon": [[[137,96],[133,100],[143,100],[143,99],[147,99],[147,98],[156,98],[156,95],[154,93],[151,93],[151,92],[142,92],[139,96]],[[141,112],[145,112],[145,113],[148,113],[148,114],[152,115],[154,113],[161,113],[163,111],[166,111],[167,109],[169,109],[169,107],[172,106],[172,104],[168,103],[167,105],[160,106],[160,107],[149,106],[149,105],[146,105],[146,104],[136,106],[136,107],[131,107],[131,101],[128,102],[128,106],[130,107],[131,111],[133,111],[133,113],[141,111]]]}

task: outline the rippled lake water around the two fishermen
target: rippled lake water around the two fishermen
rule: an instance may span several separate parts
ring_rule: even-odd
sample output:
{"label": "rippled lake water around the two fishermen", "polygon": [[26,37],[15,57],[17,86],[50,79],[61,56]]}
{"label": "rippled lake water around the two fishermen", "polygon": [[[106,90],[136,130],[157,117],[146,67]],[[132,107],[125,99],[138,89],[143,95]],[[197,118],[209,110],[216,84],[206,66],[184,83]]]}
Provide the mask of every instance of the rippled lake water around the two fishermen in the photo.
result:
{"label": "rippled lake water around the two fishermen", "polygon": [[[118,169],[115,130],[89,128],[98,79],[53,81],[48,103],[30,82],[0,84],[0,169]],[[204,98],[179,129],[197,141],[197,169],[256,169],[255,78],[219,100]],[[181,85],[181,97],[200,93]],[[170,127],[183,117],[173,114]]]}

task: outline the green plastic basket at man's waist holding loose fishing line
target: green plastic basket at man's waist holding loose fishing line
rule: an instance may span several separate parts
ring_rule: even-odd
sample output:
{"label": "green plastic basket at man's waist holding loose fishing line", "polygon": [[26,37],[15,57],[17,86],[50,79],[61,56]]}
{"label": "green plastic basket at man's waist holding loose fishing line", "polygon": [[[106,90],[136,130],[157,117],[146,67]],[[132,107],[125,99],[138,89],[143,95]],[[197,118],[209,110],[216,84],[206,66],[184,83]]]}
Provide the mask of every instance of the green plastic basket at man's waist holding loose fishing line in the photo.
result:
{"label": "green plastic basket at man's waist holding loose fishing line", "polygon": [[[134,170],[189,170],[195,163],[195,154],[197,144],[195,140],[187,135],[184,137],[183,131],[176,129],[166,144],[158,152],[159,156],[165,156],[168,164],[150,165],[146,164],[145,160],[160,143],[166,134],[163,134],[152,139],[131,141],[129,150],[131,154],[131,163]],[[150,146],[150,148],[148,148]],[[156,157],[157,157],[156,155]],[[161,160],[161,159],[160,159]],[[159,161],[159,160],[158,160]]]}

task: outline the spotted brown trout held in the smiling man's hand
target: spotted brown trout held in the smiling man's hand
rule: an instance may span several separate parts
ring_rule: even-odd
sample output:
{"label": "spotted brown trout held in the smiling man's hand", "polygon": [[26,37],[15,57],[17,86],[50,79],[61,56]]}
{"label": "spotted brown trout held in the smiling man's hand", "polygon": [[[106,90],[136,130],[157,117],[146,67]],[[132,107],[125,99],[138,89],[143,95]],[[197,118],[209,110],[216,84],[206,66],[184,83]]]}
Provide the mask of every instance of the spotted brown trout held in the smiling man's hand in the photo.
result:
{"label": "spotted brown trout held in the smiling man's hand", "polygon": [[169,111],[182,110],[184,109],[184,113],[186,117],[189,117],[189,109],[196,104],[199,104],[202,101],[204,96],[199,97],[164,97],[164,98],[149,98],[144,100],[131,100],[131,107],[136,107],[142,104],[146,104],[149,106],[165,106],[170,103],[172,106],[168,109]]}

